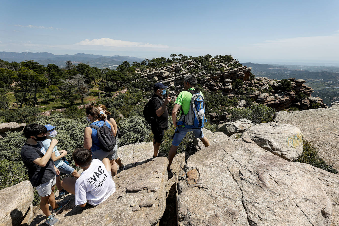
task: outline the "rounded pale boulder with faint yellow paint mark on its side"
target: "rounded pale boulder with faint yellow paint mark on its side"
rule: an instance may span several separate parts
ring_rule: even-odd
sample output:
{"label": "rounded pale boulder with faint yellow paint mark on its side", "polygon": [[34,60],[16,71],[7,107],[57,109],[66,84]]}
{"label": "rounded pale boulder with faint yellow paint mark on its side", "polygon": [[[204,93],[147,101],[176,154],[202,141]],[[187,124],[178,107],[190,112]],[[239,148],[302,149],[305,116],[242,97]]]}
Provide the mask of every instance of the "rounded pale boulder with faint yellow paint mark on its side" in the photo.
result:
{"label": "rounded pale boulder with faint yellow paint mark on its side", "polygon": [[287,161],[295,161],[302,155],[302,133],[290,124],[257,124],[242,133],[241,137],[250,138],[263,149]]}

